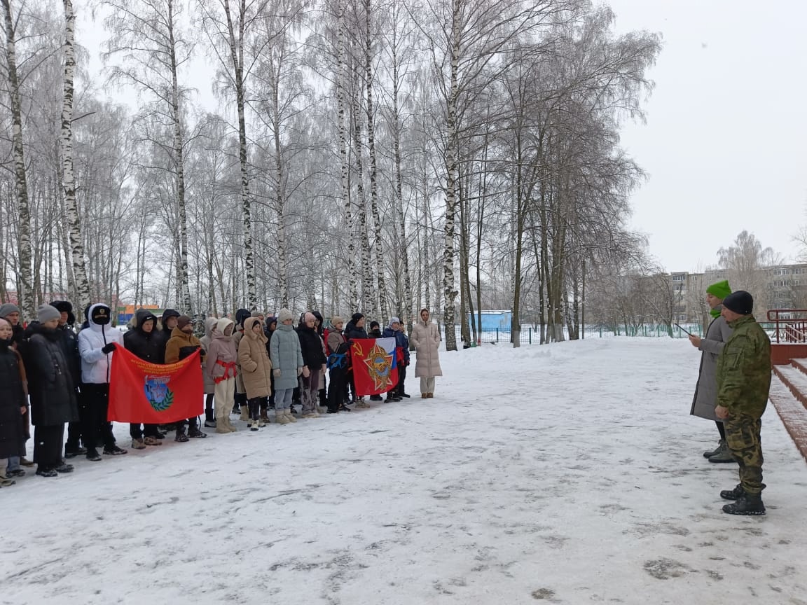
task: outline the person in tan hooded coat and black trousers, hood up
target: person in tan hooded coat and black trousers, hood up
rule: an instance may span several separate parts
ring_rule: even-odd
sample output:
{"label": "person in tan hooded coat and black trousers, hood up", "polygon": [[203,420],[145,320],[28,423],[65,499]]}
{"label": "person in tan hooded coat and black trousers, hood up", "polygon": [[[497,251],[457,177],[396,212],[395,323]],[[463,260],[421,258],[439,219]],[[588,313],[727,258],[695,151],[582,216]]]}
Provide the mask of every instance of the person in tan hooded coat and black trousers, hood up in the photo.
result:
{"label": "person in tan hooded coat and black trousers, hood up", "polygon": [[263,333],[263,324],[258,317],[250,317],[244,322],[244,336],[238,344],[238,363],[241,377],[247,392],[249,420],[247,426],[253,431],[266,424],[261,419],[261,407],[272,393],[272,362],[266,351],[269,339]]}

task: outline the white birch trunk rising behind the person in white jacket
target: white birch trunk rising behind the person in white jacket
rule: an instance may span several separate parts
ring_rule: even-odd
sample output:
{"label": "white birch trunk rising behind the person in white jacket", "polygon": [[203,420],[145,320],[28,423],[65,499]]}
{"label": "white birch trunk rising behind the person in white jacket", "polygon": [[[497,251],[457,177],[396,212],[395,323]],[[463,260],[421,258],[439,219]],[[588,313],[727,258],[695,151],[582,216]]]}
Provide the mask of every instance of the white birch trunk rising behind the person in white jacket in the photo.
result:
{"label": "white birch trunk rising behind the person in white jacket", "polygon": [[90,304],[90,282],[84,261],[82,221],[76,204],[76,179],[73,173],[73,74],[76,69],[74,48],[76,15],[72,0],[63,0],[65,5],[65,70],[64,96],[61,110],[61,162],[62,188],[65,193],[65,209],[69,223],[70,260],[73,265],[73,288],[77,294],[78,308]]}

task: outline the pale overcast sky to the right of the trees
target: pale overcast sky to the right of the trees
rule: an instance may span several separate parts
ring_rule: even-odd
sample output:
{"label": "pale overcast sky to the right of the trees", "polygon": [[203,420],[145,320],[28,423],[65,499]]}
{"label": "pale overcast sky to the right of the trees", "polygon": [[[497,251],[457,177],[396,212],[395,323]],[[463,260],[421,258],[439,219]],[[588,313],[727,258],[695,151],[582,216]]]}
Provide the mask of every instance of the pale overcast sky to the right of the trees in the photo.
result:
{"label": "pale overcast sky to the right of the trees", "polygon": [[[807,223],[807,0],[605,3],[618,32],[663,36],[647,121],[622,136],[648,174],[630,224],[650,253],[669,271],[696,271],[746,229],[794,261],[792,236]],[[78,36],[95,71],[101,23],[80,14]],[[198,100],[210,105],[204,79]]]}

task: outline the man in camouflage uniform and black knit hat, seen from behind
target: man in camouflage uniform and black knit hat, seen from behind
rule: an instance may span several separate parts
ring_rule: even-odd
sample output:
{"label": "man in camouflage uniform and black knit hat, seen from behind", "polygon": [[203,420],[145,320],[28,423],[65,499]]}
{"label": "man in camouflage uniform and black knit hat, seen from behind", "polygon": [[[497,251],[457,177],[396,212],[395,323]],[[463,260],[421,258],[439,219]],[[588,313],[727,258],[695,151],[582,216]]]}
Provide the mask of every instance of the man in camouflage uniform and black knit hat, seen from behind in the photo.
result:
{"label": "man in camouflage uniform and black knit hat, seen from behind", "polygon": [[730,515],[764,515],[762,502],[761,417],[771,387],[771,340],[751,315],[754,298],[745,290],[723,300],[722,315],[732,332],[717,358],[717,407],[725,424],[725,440],[740,465],[740,482],[721,491],[723,512]]}

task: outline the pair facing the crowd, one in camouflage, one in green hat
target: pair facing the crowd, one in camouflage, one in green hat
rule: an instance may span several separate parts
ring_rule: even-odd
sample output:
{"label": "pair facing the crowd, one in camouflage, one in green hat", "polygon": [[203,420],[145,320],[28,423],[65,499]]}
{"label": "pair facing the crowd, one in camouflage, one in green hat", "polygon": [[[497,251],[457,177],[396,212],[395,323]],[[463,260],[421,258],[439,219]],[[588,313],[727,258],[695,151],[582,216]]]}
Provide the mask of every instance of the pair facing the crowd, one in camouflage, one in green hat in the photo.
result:
{"label": "pair facing the crowd, one in camouflage, one in green hat", "polygon": [[717,424],[717,449],[704,457],[739,465],[738,485],[720,492],[734,501],[723,511],[764,515],[760,429],[771,387],[771,340],[752,315],[754,298],[748,292],[732,292],[723,280],[706,289],[706,303],[712,321],[705,336],[689,336],[703,352],[690,413]]}

